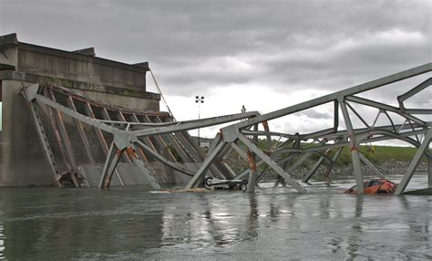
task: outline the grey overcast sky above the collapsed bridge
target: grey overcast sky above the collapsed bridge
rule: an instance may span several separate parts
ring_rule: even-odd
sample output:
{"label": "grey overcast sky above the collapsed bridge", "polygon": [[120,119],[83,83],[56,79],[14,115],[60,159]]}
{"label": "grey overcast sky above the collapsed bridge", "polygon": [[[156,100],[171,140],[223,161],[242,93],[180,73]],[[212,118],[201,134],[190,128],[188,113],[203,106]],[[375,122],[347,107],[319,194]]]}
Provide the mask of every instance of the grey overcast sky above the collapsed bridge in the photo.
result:
{"label": "grey overcast sky above the collapsed bridge", "polygon": [[[186,120],[197,118],[195,95],[205,96],[203,117],[242,105],[269,112],[430,62],[431,3],[0,0],[0,35],[149,61],[175,116]],[[426,97],[419,102],[430,107]],[[294,121],[325,127],[323,115]]]}

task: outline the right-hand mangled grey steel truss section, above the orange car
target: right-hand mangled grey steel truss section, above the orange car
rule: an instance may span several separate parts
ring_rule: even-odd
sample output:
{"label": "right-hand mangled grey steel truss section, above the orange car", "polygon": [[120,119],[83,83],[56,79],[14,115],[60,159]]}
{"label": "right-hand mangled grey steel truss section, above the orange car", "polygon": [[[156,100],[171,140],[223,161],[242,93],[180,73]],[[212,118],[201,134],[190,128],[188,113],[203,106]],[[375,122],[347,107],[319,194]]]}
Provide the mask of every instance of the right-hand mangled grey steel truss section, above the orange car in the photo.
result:
{"label": "right-hand mangled grey steel truss section, above the orange car", "polygon": [[[258,115],[249,120],[242,120],[239,123],[231,124],[230,126],[222,128],[221,138],[218,138],[221,141],[218,142],[220,142],[220,144],[224,144],[224,146],[226,146],[227,143],[231,144],[231,147],[241,155],[242,159],[249,162],[249,171],[245,170],[244,172],[238,174],[237,178],[249,173],[249,183],[252,183],[253,185],[257,179],[257,166],[259,167],[265,163],[266,168],[270,168],[274,172],[278,173],[286,182],[290,183],[293,188],[295,188],[300,193],[305,193],[305,190],[299,183],[293,180],[291,175],[293,169],[300,165],[299,162],[303,162],[313,152],[322,154],[322,157],[314,164],[311,171],[308,172],[305,177],[303,177],[303,182],[307,182],[323,162],[329,162],[326,171],[329,174],[332,171],[334,162],[340,155],[342,148],[348,147],[354,166],[355,183],[357,185],[358,192],[364,193],[364,177],[361,169],[361,162],[364,162],[365,165],[375,173],[375,175],[384,177],[384,174],[380,172],[373,165],[373,163],[365,157],[365,155],[358,151],[359,144],[393,139],[406,141],[418,147],[419,149],[417,151],[416,157],[413,159],[413,162],[411,162],[411,165],[404,176],[401,186],[397,191],[397,194],[403,193],[406,188],[406,184],[409,183],[410,177],[414,173],[414,170],[416,169],[418,162],[423,155],[427,156],[429,166],[432,165],[431,155],[427,150],[430,143],[430,126],[432,125],[432,122],[430,120],[422,120],[416,116],[418,114],[426,114],[430,116],[432,114],[432,110],[430,108],[407,109],[404,105],[404,101],[417,95],[420,91],[429,88],[432,80],[431,78],[427,78],[425,81],[417,85],[417,87],[397,96],[396,102],[399,104],[399,107],[390,106],[371,99],[361,98],[357,95],[368,90],[384,87],[406,78],[425,75],[430,71],[432,71],[432,63],[428,63],[417,68],[410,68],[384,78],[378,78],[349,89],[337,91],[332,94],[302,102],[281,110],[275,110],[270,113]],[[269,120],[275,120],[284,116],[292,115],[299,111],[313,109],[329,102],[334,102],[334,126],[329,129],[315,131],[312,133],[280,133],[270,131],[268,128]],[[362,112],[355,110],[351,103],[355,103],[357,106],[374,108],[378,110],[378,114],[376,115],[374,122],[372,124],[368,124],[367,120],[365,120],[367,115],[362,116]],[[339,119],[339,110],[342,111],[342,119]],[[385,125],[377,121],[381,114],[386,116],[386,119],[389,121],[390,125]],[[392,117],[394,115],[401,117],[405,121],[402,124],[395,124],[395,119]],[[355,118],[360,120],[365,125],[365,127],[354,128],[352,120]],[[346,127],[345,130],[338,131],[340,129],[340,120],[344,120]],[[257,126],[257,124],[262,124],[264,130],[258,131],[255,129],[251,131],[251,127]],[[424,135],[425,138],[420,142],[419,136],[421,135]],[[274,146],[270,145],[268,148],[262,148],[262,144],[258,145],[256,142],[258,136],[264,136],[267,139],[267,144],[272,144],[271,139],[273,137],[279,138],[279,140]],[[285,139],[285,141],[279,142],[281,138]],[[313,141],[307,146],[291,146],[291,144],[294,144],[295,142],[300,144],[300,142],[304,143],[309,140]],[[240,144],[242,144],[242,146],[240,146]],[[337,150],[334,155],[334,159],[328,159],[326,155],[334,149]],[[196,182],[189,183],[186,188],[189,189],[201,185],[199,181],[204,178],[205,172],[211,163],[217,161],[218,157],[216,155],[221,153],[220,150],[221,148],[217,147],[214,148],[213,151],[209,151],[211,156],[208,156],[206,159],[206,166],[203,166],[201,170],[195,174],[193,180]],[[297,161],[291,162],[293,160],[293,155],[290,155],[289,153],[287,154],[287,152],[297,153],[299,157]],[[285,153],[285,155],[283,155],[283,153]],[[251,157],[251,155],[253,157]],[[255,156],[259,158],[257,159],[258,161],[255,160]],[[221,155],[221,157],[223,157],[223,155]],[[284,157],[284,159],[276,159],[278,157]],[[429,183],[432,183],[432,167],[429,167],[428,172]],[[258,177],[262,177],[262,175],[258,175]],[[252,192],[253,189],[250,191]]]}

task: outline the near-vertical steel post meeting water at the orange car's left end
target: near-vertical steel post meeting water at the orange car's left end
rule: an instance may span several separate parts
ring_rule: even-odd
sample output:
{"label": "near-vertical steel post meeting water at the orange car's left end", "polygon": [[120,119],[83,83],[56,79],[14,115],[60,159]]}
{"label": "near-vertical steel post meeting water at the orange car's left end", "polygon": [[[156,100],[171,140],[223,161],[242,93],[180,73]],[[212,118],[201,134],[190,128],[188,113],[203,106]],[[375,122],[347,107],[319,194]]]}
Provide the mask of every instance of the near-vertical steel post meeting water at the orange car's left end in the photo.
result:
{"label": "near-vertical steel post meeting water at the orange car's left end", "polygon": [[351,145],[351,161],[353,162],[355,183],[357,185],[357,193],[365,193],[365,183],[363,181],[363,173],[360,165],[360,157],[358,156],[358,142],[355,138],[355,132],[353,128],[353,123],[349,117],[348,110],[346,109],[345,100],[343,97],[339,98],[339,104],[344,116],[346,131],[348,132],[348,137]]}

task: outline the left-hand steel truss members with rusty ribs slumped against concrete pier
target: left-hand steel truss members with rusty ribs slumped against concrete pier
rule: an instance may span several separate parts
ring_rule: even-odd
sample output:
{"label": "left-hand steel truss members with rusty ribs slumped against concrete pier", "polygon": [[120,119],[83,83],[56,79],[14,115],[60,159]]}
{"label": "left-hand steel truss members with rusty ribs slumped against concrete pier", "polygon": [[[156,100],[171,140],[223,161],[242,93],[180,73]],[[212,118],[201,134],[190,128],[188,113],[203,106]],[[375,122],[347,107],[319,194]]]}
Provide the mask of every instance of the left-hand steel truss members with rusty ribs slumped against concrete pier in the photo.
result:
{"label": "left-hand steel truss members with rusty ribs slumped against concrete pier", "polygon": [[[36,131],[44,147],[47,161],[55,176],[58,186],[70,181],[76,187],[87,185],[85,177],[77,173],[77,144],[70,140],[71,130],[67,131],[64,117],[72,119],[73,130],[77,131],[79,141],[84,147],[89,163],[98,163],[95,150],[90,145],[90,133],[85,126],[91,127],[99,142],[99,149],[106,159],[99,181],[99,188],[107,189],[111,177],[115,173],[120,184],[122,178],[117,170],[118,162],[134,163],[147,179],[153,189],[159,190],[160,184],[155,177],[158,174],[149,171],[145,162],[162,162],[170,169],[192,176],[193,172],[182,163],[201,163],[204,159],[202,151],[187,131],[219,125],[234,120],[243,120],[259,115],[251,111],[233,115],[225,115],[201,120],[174,122],[170,114],[156,111],[137,111],[114,107],[109,104],[87,99],[68,89],[52,84],[36,84],[23,88],[23,96],[36,124]],[[79,108],[78,108],[79,107]],[[41,108],[36,110],[36,108]],[[55,152],[50,148],[46,130],[44,129],[44,112],[49,116],[51,127],[57,138],[57,146],[63,155],[63,163],[67,170],[60,173],[55,161]],[[88,128],[87,127],[87,128]],[[110,146],[108,147],[108,144]],[[171,151],[172,150],[172,151]],[[96,153],[100,154],[100,151]],[[180,160],[174,155],[175,151]],[[222,178],[230,178],[231,173],[224,165],[214,164],[211,171]]]}

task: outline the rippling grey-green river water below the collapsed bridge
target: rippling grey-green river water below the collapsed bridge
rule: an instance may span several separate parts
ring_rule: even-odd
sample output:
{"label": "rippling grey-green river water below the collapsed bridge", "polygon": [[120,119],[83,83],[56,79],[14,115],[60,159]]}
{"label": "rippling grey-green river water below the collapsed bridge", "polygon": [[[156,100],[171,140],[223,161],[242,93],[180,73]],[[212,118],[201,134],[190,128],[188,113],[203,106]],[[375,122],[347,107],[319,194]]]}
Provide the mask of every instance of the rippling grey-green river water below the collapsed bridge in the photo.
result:
{"label": "rippling grey-green river water below the collapsed bridge", "polygon": [[307,194],[0,188],[0,259],[432,258],[432,196],[342,194],[348,182]]}

